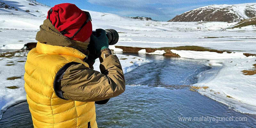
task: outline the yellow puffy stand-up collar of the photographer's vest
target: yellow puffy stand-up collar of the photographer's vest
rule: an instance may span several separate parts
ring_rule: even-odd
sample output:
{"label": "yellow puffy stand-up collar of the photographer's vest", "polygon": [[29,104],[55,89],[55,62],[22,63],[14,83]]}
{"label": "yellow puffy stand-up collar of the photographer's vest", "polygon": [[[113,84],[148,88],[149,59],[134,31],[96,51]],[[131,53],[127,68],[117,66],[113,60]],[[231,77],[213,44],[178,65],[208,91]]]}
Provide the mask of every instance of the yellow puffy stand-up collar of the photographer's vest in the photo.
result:
{"label": "yellow puffy stand-up collar of the photographer's vest", "polygon": [[63,47],[63,46],[53,46],[47,45],[41,42],[37,42],[36,51],[40,54],[49,54],[49,55],[69,55],[77,57],[83,60],[86,55],[81,51],[71,48],[71,47]]}

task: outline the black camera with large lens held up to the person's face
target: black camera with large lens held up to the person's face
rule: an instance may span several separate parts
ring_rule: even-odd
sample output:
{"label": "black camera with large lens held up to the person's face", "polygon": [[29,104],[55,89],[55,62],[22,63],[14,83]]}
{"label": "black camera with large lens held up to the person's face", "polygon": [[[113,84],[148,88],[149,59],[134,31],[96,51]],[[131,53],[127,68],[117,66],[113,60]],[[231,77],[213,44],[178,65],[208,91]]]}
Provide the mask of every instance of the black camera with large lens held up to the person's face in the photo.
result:
{"label": "black camera with large lens held up to the person's face", "polygon": [[[106,29],[106,36],[109,39],[109,45],[115,45],[119,40],[118,32],[114,29]],[[99,37],[101,33],[93,31],[94,36]]]}

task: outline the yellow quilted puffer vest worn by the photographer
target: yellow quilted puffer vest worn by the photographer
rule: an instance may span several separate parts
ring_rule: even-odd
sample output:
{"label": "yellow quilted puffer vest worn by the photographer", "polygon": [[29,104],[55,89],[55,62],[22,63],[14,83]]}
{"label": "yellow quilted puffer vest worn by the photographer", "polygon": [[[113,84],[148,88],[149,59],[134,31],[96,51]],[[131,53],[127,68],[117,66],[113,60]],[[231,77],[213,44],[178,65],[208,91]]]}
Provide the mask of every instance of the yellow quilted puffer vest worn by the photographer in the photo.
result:
{"label": "yellow quilted puffer vest worn by the photographer", "polygon": [[35,128],[97,128],[95,102],[78,102],[59,98],[54,79],[65,64],[83,62],[86,56],[70,47],[38,42],[25,64],[25,90]]}

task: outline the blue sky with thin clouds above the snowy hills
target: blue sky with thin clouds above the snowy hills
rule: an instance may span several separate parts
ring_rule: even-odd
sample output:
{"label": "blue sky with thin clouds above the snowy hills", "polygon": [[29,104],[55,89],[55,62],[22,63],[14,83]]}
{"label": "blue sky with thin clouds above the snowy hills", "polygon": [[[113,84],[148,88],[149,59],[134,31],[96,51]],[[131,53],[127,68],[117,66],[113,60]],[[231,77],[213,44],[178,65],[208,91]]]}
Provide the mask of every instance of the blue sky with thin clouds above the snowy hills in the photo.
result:
{"label": "blue sky with thin clouds above the snowy hills", "polygon": [[74,3],[79,8],[125,17],[144,16],[168,21],[186,11],[213,4],[256,3],[256,0],[36,0],[53,7]]}

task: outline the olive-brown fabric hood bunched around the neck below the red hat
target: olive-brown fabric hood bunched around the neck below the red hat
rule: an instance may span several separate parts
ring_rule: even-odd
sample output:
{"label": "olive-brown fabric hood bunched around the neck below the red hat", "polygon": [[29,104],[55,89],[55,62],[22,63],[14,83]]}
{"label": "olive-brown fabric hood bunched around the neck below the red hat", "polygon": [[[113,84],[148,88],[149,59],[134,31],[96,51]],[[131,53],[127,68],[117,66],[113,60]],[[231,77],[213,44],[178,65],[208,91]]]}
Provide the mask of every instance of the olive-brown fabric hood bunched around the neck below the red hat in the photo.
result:
{"label": "olive-brown fabric hood bunched around the neck below the red hat", "polygon": [[75,48],[81,51],[83,54],[88,55],[88,42],[70,40],[66,36],[62,35],[51,24],[49,19],[45,19],[44,23],[40,25],[40,31],[37,32],[35,40],[47,45]]}

